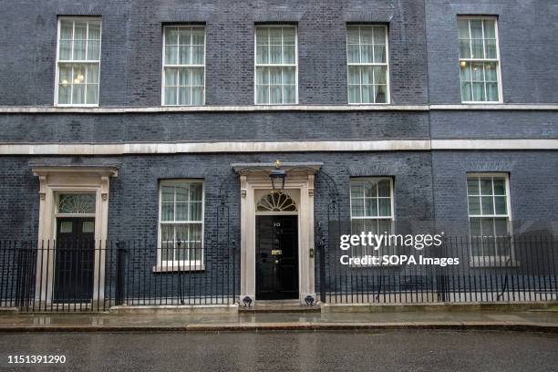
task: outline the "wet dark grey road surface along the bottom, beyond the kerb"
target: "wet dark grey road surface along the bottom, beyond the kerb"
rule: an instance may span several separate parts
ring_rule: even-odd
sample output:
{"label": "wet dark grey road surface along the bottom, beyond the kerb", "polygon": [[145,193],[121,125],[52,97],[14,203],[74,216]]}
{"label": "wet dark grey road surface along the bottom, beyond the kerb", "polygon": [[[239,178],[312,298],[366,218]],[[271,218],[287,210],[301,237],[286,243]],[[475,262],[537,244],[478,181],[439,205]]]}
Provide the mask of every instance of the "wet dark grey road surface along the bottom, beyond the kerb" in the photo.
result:
{"label": "wet dark grey road surface along the bottom, beyond the kerb", "polygon": [[13,355],[66,357],[64,365],[40,366],[50,370],[550,371],[558,369],[558,335],[434,330],[0,334],[0,370],[30,367],[8,364]]}

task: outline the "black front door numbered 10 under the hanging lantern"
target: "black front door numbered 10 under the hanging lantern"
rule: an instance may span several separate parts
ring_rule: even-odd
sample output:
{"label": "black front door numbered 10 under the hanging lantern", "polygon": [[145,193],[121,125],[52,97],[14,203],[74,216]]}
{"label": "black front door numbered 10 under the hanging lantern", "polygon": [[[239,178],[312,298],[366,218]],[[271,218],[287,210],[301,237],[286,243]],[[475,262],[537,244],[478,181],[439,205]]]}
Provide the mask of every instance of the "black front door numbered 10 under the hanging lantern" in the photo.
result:
{"label": "black front door numbered 10 under the hanging lantern", "polygon": [[256,297],[298,298],[296,216],[256,216]]}

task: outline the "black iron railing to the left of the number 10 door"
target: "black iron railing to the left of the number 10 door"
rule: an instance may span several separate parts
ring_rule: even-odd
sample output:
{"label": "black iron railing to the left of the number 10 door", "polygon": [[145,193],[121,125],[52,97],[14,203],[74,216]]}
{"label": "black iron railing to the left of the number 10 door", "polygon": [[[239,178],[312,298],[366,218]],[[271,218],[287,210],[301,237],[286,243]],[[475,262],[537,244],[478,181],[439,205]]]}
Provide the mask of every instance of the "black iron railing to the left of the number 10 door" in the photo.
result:
{"label": "black iron railing to the left of the number 10 door", "polygon": [[119,305],[229,305],[234,243],[0,241],[0,306],[107,311]]}

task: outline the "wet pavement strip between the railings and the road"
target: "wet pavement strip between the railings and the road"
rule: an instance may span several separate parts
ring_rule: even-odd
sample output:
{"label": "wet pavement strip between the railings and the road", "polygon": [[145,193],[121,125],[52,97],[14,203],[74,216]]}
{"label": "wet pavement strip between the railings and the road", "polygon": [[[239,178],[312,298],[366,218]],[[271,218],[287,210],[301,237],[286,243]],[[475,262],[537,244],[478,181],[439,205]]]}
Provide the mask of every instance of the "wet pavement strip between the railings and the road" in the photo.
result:
{"label": "wet pavement strip between the railings and the road", "polygon": [[386,329],[512,330],[558,333],[558,313],[255,313],[234,315],[2,314],[0,332],[222,332]]}

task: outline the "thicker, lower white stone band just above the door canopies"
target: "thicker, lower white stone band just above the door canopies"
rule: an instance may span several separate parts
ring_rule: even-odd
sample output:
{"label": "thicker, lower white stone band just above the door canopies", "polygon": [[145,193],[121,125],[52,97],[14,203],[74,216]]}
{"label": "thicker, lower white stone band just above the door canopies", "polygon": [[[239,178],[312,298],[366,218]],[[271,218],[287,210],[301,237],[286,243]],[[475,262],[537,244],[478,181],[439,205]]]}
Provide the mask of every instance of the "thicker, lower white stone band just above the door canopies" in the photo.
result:
{"label": "thicker, lower white stone band just above the door canopies", "polygon": [[216,152],[558,150],[558,140],[326,140],[258,142],[0,143],[0,155],[125,155]]}

